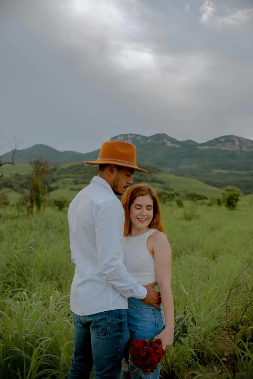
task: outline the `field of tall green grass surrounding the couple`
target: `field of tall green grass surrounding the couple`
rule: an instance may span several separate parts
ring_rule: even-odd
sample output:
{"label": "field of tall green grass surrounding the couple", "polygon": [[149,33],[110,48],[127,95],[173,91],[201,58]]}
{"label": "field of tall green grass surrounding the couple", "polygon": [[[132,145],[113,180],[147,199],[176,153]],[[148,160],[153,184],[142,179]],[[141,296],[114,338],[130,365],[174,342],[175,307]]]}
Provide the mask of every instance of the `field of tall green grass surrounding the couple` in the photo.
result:
{"label": "field of tall green grass surrounding the couple", "polygon": [[[13,213],[6,208],[0,225],[0,378],[67,378],[74,274],[67,214],[46,208],[13,219]],[[168,349],[161,378],[253,378],[252,326],[233,353],[226,325],[229,290],[253,259],[253,198],[244,197],[233,211],[173,202],[162,205],[162,213],[173,250],[175,314],[191,312],[196,326],[183,344]],[[239,277],[241,296],[233,297],[238,309],[252,278],[249,266]]]}

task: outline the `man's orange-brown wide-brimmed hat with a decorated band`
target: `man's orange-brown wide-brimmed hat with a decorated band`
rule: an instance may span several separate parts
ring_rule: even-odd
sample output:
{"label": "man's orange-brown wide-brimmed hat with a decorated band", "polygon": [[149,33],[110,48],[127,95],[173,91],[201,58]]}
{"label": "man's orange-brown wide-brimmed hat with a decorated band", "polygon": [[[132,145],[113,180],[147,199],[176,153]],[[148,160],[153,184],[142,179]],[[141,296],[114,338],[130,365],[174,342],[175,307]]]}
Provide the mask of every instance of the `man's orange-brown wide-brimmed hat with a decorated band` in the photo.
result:
{"label": "man's orange-brown wide-brimmed hat with a decorated band", "polygon": [[123,141],[104,142],[101,146],[97,160],[84,162],[87,164],[115,164],[125,166],[135,171],[147,173],[136,164],[136,147],[132,143]]}

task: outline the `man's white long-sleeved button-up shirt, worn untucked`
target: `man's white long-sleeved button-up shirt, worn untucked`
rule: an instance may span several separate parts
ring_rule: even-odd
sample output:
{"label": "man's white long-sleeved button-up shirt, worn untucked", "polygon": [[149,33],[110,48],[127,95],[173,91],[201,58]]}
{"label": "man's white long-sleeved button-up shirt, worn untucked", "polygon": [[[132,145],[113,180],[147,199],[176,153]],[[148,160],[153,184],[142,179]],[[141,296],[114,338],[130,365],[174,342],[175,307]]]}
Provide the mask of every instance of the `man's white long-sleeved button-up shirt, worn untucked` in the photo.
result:
{"label": "man's white long-sleeved button-up shirt, worn untucked", "polygon": [[124,266],[124,209],[110,185],[99,176],[69,205],[72,262],[70,308],[79,316],[127,309],[127,298],[143,299],[147,290]]}

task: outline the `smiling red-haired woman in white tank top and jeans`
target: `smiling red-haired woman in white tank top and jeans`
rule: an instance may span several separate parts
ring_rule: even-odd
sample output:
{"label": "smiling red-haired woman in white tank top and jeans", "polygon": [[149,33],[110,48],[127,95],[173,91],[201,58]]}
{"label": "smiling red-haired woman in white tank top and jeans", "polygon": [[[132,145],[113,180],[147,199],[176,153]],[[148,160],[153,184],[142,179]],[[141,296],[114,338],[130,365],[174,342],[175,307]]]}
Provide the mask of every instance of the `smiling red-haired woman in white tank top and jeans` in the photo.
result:
{"label": "smiling red-haired woman in white tank top and jeans", "polygon": [[[174,306],[171,290],[171,248],[164,233],[158,197],[146,184],[126,190],[122,205],[125,210],[123,238],[124,264],[127,271],[142,285],[158,283],[162,306],[157,310],[136,298],[128,299],[127,321],[130,341],[160,338],[165,349],[173,343]],[[137,379],[142,371],[128,363],[129,346],[122,362],[122,377]],[[158,379],[160,364],[151,375]]]}

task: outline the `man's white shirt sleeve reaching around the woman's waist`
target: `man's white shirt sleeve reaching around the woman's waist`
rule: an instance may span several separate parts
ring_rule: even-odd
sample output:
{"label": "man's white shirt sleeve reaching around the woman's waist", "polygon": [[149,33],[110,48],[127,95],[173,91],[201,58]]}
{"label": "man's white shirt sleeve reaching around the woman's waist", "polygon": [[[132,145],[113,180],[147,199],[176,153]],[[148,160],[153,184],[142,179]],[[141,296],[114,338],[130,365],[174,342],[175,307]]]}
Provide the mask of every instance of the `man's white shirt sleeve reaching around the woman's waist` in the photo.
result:
{"label": "man's white shirt sleeve reaching around the woman's waist", "polygon": [[99,205],[95,220],[98,265],[103,278],[126,298],[144,299],[145,287],[140,285],[123,264],[123,248],[120,241],[122,209],[117,199],[106,200]]}

